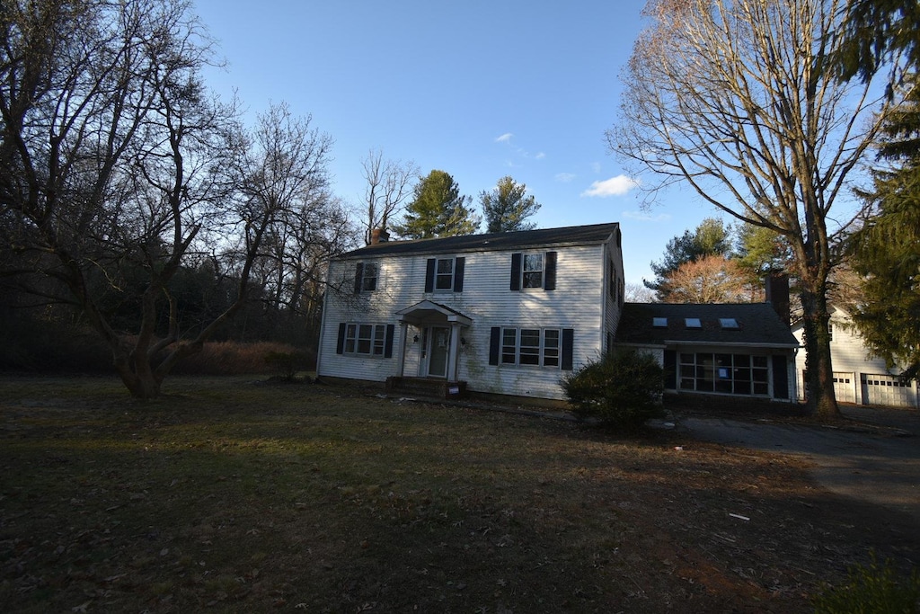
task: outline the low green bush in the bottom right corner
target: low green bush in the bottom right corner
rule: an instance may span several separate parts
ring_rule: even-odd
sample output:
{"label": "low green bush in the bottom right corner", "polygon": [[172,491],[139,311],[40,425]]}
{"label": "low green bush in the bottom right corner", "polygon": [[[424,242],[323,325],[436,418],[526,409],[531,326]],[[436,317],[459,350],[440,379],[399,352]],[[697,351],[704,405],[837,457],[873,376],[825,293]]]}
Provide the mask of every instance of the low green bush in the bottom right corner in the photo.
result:
{"label": "low green bush in the bottom right corner", "polygon": [[841,586],[826,586],[812,599],[815,614],[916,614],[920,612],[920,573],[901,577],[891,561],[854,565]]}

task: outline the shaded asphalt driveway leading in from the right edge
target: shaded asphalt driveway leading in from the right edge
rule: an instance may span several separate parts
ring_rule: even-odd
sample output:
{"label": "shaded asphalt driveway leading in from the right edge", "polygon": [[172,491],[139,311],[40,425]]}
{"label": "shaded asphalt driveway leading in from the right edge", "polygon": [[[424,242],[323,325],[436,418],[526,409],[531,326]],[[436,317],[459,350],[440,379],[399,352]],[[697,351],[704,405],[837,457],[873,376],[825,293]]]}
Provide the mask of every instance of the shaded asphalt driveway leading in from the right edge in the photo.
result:
{"label": "shaded asphalt driveway leading in from the right edge", "polygon": [[843,428],[686,416],[696,439],[810,460],[812,476],[838,494],[913,516],[920,527],[920,411],[842,406]]}

